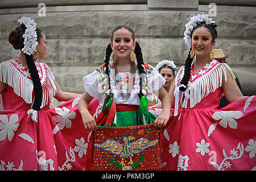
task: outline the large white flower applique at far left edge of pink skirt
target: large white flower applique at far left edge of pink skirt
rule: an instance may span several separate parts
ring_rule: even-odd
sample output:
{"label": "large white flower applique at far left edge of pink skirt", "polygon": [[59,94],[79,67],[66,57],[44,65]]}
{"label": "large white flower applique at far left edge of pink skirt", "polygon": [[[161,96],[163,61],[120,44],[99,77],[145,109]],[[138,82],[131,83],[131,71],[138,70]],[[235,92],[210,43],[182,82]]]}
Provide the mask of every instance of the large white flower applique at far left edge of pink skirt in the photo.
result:
{"label": "large white flower applique at far left edge of pink skirt", "polygon": [[7,135],[10,142],[13,140],[14,131],[19,127],[19,123],[15,124],[18,121],[18,114],[11,115],[9,121],[7,115],[0,115],[0,141],[5,140]]}

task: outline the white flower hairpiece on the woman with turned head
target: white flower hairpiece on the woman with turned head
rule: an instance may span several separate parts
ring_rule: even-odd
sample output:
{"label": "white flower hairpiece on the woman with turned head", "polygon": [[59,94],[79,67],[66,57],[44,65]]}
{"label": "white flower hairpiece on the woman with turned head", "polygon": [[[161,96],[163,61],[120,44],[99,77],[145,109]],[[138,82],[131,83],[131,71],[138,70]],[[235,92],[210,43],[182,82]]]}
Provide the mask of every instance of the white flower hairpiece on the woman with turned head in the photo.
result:
{"label": "white flower hairpiece on the woman with turned head", "polygon": [[32,55],[38,45],[36,41],[36,23],[34,19],[30,17],[22,16],[22,18],[18,19],[20,24],[24,24],[27,28],[23,34],[24,38],[24,47],[22,48],[22,52],[26,53],[27,55]]}

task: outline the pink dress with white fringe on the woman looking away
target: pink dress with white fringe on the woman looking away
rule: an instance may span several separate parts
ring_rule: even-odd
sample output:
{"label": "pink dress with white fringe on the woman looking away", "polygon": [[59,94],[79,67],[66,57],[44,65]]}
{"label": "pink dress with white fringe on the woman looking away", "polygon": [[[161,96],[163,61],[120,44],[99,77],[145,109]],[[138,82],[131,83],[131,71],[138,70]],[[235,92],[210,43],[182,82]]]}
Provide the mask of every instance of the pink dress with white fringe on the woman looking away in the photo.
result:
{"label": "pink dress with white fringe on the woman looking away", "polygon": [[35,64],[43,88],[38,114],[31,110],[34,91],[28,69],[14,59],[0,64],[1,81],[7,84],[1,94],[0,170],[82,170],[90,130],[84,129],[77,109],[80,98],[50,109],[55,78],[46,64]]}

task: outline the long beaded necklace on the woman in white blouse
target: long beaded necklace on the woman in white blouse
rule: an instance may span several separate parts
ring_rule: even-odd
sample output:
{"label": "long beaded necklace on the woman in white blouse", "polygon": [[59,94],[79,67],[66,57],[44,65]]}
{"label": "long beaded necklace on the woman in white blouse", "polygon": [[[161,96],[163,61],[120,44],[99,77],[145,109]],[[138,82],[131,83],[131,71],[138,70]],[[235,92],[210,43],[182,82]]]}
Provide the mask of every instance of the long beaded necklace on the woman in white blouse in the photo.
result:
{"label": "long beaded necklace on the woman in white blouse", "polygon": [[117,63],[113,63],[114,67],[114,82],[115,82],[115,88],[117,88],[118,93],[122,96],[123,101],[127,101],[131,96],[131,90],[133,90],[134,82],[135,82],[135,63],[134,61],[131,61],[130,64],[130,75],[129,75],[129,83],[128,83],[128,92],[124,93],[124,89],[122,88],[121,81],[118,77],[118,70],[117,70]]}

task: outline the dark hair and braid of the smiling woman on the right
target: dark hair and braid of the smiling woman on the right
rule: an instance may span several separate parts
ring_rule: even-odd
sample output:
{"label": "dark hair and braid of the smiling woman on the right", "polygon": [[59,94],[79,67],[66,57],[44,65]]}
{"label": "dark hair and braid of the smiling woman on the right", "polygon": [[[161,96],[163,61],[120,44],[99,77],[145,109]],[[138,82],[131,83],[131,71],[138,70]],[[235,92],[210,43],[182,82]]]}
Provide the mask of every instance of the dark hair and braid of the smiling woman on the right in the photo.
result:
{"label": "dark hair and braid of the smiling woman on the right", "polygon": [[[212,42],[214,42],[214,40],[216,40],[218,32],[215,28],[217,27],[217,24],[206,24],[205,22],[202,22],[200,24],[197,24],[197,26],[195,28],[193,28],[193,31],[195,31],[199,27],[207,28],[208,31],[210,32],[210,34],[212,35]],[[192,39],[193,31],[191,32],[191,35],[190,35],[191,39]],[[189,77],[191,75],[191,64],[192,64],[192,61],[193,61],[193,59],[190,56],[191,49],[192,48],[189,49],[188,56],[187,56],[187,59],[185,61],[184,75],[183,75],[182,80],[180,81],[180,85],[182,85],[182,86],[180,86],[179,89],[182,92],[185,92],[185,90],[187,88],[187,85],[188,85]]]}

